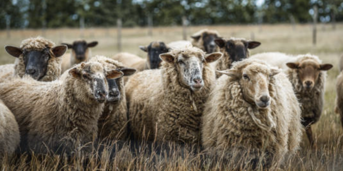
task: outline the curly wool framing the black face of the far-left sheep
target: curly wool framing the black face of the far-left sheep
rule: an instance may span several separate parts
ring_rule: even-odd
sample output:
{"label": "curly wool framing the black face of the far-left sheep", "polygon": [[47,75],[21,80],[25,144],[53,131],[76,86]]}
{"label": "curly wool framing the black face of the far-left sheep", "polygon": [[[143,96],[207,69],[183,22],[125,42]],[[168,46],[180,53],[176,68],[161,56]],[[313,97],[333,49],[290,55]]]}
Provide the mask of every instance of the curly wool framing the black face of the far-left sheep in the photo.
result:
{"label": "curly wool framing the black face of the far-left sheep", "polygon": [[[55,57],[54,53],[52,53],[51,48],[54,46],[54,42],[43,37],[25,39],[20,44],[20,48],[26,51],[43,50],[45,48],[49,48],[50,50],[51,56],[48,61],[46,74],[38,81],[53,81],[58,79],[58,77],[61,75],[62,60],[59,57]],[[19,77],[22,78],[25,75],[25,63],[23,54],[15,59],[14,65],[14,75],[19,75]]]}

